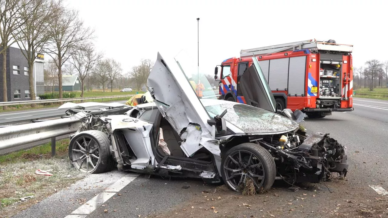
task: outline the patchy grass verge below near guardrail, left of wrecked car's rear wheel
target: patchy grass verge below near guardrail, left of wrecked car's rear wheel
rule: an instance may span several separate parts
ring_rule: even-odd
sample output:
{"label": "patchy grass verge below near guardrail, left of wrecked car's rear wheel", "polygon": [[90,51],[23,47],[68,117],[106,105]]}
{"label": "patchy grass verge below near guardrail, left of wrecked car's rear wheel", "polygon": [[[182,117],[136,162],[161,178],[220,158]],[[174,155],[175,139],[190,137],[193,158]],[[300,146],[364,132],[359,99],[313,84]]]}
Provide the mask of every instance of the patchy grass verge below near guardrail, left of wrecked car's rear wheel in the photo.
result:
{"label": "patchy grass verge below near guardrail, left of wrecked car's rear wheel", "polygon": [[[0,217],[13,216],[85,175],[71,166],[68,145],[68,139],[58,141],[55,157],[50,143],[0,156]],[[53,175],[36,175],[37,169]],[[26,196],[34,197],[22,202]]]}

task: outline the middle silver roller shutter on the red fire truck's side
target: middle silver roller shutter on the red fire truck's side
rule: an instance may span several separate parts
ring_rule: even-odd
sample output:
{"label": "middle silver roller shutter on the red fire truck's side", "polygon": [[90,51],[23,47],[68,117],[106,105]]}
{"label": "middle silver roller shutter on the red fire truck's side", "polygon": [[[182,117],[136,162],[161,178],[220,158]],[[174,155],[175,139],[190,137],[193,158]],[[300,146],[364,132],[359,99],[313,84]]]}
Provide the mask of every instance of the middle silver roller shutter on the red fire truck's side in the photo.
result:
{"label": "middle silver roller shutter on the red fire truck's side", "polygon": [[289,58],[273,59],[269,62],[269,81],[271,90],[284,90],[288,81]]}

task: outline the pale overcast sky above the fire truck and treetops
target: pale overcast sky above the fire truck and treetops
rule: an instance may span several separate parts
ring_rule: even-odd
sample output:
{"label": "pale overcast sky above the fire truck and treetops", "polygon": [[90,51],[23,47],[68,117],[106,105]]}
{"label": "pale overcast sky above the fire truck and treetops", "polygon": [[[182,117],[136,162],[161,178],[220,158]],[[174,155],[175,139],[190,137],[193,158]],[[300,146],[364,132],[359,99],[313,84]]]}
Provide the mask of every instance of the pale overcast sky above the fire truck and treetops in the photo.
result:
{"label": "pale overcast sky above the fire truck and treetops", "polygon": [[241,49],[308,39],[352,44],[353,66],[388,60],[386,1],[147,1],[68,0],[85,25],[95,29],[95,45],[121,62],[126,73],[140,59],[175,56],[184,49],[213,73]]}

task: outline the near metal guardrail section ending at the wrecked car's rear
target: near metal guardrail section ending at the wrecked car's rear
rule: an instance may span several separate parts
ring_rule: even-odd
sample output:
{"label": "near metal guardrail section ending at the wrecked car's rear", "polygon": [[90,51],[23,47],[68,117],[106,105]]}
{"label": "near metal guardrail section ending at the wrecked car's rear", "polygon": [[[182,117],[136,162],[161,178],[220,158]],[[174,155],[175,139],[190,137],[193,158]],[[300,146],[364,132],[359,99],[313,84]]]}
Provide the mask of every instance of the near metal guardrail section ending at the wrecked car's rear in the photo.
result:
{"label": "near metal guardrail section ending at the wrecked car's rear", "polygon": [[80,124],[80,119],[72,117],[3,127],[0,128],[0,150],[51,138],[51,155],[54,156],[55,137],[76,132]]}

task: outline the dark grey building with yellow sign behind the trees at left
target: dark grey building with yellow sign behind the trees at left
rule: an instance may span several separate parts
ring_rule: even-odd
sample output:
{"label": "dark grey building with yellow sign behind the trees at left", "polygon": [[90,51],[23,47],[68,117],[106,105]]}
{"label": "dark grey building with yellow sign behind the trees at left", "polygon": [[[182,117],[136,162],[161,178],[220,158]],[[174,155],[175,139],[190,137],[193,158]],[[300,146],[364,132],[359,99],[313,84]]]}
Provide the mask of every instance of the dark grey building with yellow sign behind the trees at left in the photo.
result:
{"label": "dark grey building with yellow sign behind the trees at left", "polygon": [[[0,48],[1,49],[1,48]],[[36,59],[34,63],[34,88],[36,96],[44,93],[43,90],[43,63],[44,57]],[[3,66],[3,55],[0,54],[0,66]],[[31,100],[28,81],[28,63],[19,48],[7,48],[7,99],[8,101]],[[2,74],[0,67],[0,74]],[[3,77],[0,76],[0,90],[3,90]],[[3,102],[3,95],[0,95],[0,102]]]}

